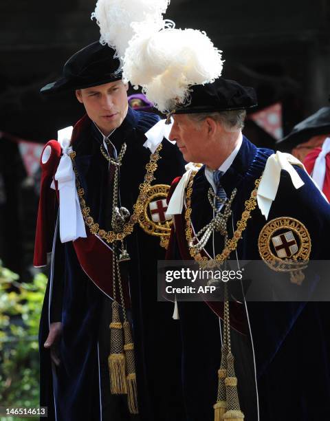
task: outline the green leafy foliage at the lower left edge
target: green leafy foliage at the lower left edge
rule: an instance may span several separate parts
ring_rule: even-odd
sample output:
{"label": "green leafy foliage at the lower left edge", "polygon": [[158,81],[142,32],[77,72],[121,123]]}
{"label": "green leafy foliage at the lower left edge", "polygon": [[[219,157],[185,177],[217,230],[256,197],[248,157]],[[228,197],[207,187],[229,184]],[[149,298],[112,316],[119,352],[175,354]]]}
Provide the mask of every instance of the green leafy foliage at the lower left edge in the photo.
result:
{"label": "green leafy foliage at the lower left edge", "polygon": [[37,407],[38,330],[47,277],[37,274],[32,283],[18,279],[0,261],[0,402],[2,407]]}

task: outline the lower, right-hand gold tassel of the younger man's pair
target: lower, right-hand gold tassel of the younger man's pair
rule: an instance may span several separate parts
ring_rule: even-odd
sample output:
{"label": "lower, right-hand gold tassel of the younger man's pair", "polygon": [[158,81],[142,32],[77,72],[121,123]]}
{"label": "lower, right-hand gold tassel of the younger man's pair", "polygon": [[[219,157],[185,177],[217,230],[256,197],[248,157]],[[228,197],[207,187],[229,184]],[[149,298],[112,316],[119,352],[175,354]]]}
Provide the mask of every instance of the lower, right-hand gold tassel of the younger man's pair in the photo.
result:
{"label": "lower, right-hand gold tassel of the younger man's pair", "polygon": [[128,321],[124,321],[125,344],[124,351],[126,356],[126,380],[127,380],[127,402],[130,413],[139,413],[137,405],[137,384],[135,374],[134,343],[131,334],[131,327]]}

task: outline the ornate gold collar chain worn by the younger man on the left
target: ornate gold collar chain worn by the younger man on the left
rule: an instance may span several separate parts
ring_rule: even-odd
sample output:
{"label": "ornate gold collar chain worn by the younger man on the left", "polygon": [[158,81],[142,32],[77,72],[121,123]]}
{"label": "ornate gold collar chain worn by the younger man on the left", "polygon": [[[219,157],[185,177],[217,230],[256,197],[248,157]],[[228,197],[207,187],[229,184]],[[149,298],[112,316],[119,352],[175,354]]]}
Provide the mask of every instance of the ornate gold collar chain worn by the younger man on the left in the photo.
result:
{"label": "ornate gold collar chain worn by the younger man on the left", "polygon": [[141,202],[146,197],[146,193],[151,188],[151,182],[155,180],[153,173],[155,173],[157,169],[157,161],[162,158],[159,155],[159,151],[162,149],[162,144],[159,144],[155,153],[152,153],[150,156],[150,161],[146,164],[146,175],[144,175],[144,182],[140,184],[139,189],[140,193],[137,197],[137,201],[133,206],[133,215],[131,215],[129,222],[124,224],[122,230],[120,232],[115,233],[115,231],[106,231],[100,228],[99,224],[94,221],[94,218],[91,217],[90,212],[91,209],[87,206],[85,202],[85,191],[80,185],[78,171],[76,169],[74,159],[76,158],[76,152],[72,152],[69,154],[69,157],[72,160],[72,164],[74,166],[74,173],[76,175],[76,186],[77,186],[77,193],[79,197],[79,203],[81,208],[81,213],[83,214],[83,219],[85,224],[89,227],[91,234],[99,235],[102,239],[107,241],[107,243],[113,243],[114,241],[122,241],[127,235],[133,233],[134,225],[139,221],[140,215],[143,213],[143,206]]}

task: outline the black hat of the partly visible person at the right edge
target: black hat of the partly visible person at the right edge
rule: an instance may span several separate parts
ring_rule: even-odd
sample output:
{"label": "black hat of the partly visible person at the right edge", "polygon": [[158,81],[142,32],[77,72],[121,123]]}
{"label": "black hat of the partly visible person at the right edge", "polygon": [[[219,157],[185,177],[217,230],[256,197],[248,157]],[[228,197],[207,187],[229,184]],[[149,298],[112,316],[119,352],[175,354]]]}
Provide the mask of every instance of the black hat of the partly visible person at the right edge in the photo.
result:
{"label": "black hat of the partly visible person at the right edge", "polygon": [[292,131],[277,143],[293,148],[314,136],[327,133],[330,133],[330,107],[323,107],[294,126]]}

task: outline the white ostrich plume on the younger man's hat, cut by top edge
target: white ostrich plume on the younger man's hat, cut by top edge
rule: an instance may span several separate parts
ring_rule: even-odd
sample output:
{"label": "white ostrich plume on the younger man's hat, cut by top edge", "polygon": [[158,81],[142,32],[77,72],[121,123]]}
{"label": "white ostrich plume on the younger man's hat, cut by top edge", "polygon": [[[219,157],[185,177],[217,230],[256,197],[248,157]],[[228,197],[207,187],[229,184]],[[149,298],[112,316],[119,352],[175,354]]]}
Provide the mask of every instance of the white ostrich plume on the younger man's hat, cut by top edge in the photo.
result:
{"label": "white ostrich plume on the younger man's hat, cut by top edge", "polygon": [[[116,50],[122,63],[129,40],[138,30],[163,27],[162,14],[170,0],[98,0],[91,19],[100,27],[100,43]],[[132,24],[134,23],[134,24]]]}

